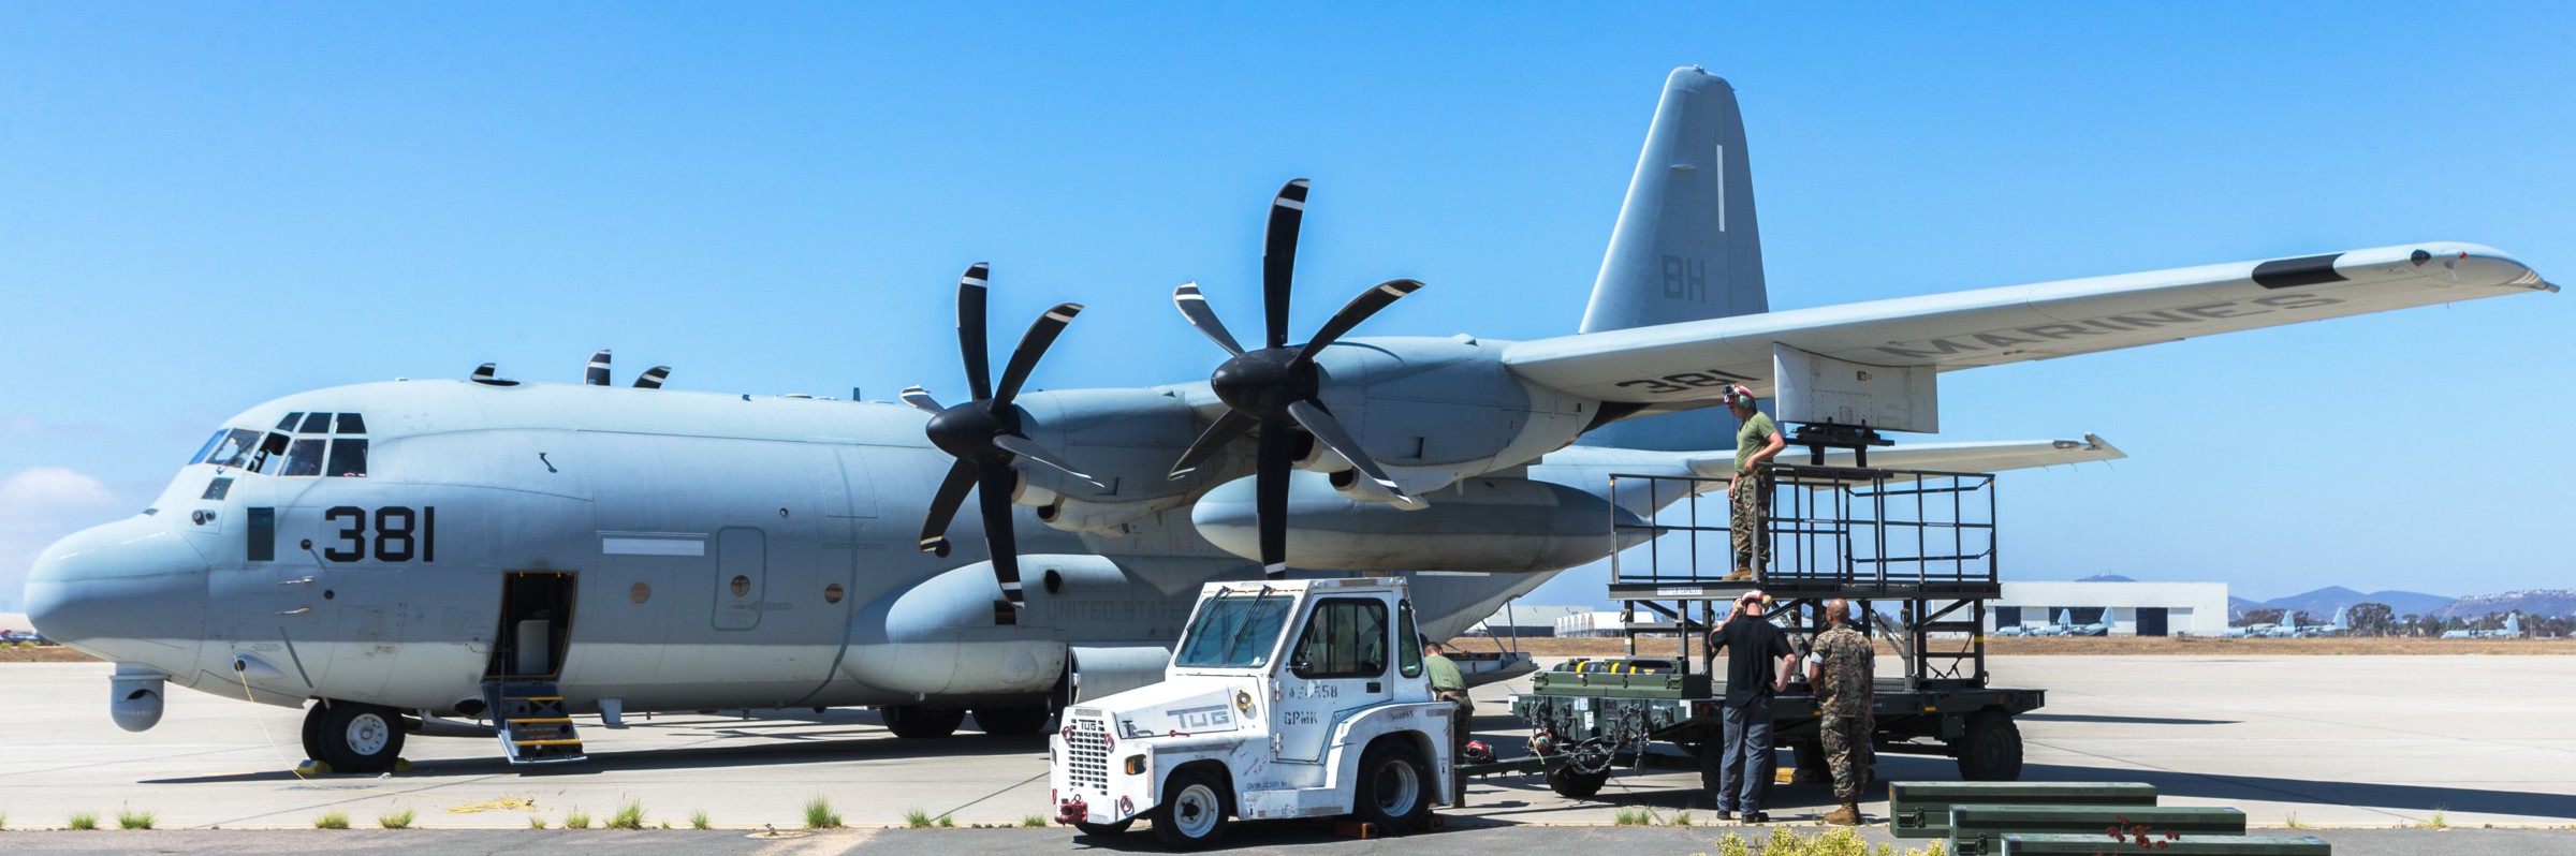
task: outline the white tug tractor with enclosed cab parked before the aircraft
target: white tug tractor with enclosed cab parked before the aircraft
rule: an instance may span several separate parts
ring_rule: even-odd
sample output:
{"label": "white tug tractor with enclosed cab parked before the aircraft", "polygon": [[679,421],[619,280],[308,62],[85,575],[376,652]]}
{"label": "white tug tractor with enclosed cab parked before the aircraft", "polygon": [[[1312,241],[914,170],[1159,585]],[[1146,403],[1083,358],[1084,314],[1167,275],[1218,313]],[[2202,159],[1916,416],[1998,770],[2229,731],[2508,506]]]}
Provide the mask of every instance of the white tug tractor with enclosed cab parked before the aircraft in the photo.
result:
{"label": "white tug tractor with enclosed cab parked before the aircraft", "polygon": [[1381,835],[1453,802],[1404,580],[1208,583],[1162,683],[1064,709],[1056,822],[1200,848],[1229,817],[1337,817]]}

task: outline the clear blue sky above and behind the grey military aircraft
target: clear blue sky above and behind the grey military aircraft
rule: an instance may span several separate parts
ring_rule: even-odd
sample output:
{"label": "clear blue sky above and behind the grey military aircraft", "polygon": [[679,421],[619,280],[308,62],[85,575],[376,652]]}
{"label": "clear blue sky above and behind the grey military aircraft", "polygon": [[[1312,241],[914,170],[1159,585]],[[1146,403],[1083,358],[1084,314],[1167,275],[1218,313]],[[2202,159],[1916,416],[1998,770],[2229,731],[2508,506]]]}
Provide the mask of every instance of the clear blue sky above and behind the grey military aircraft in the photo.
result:
{"label": "clear blue sky above and behind the grey military aircraft", "polygon": [[[2414,240],[2576,284],[2566,5],[0,5],[0,598],[222,418],[392,376],[961,387],[956,273],[1206,376],[1316,180],[1298,327],[1571,333],[1674,64],[1734,80],[1775,307]],[[2007,572],[2568,585],[2576,294],[1981,369]],[[1018,325],[1018,322],[1010,322]],[[2543,446],[2548,443],[2548,446]],[[1595,598],[1597,575],[1535,603]]]}

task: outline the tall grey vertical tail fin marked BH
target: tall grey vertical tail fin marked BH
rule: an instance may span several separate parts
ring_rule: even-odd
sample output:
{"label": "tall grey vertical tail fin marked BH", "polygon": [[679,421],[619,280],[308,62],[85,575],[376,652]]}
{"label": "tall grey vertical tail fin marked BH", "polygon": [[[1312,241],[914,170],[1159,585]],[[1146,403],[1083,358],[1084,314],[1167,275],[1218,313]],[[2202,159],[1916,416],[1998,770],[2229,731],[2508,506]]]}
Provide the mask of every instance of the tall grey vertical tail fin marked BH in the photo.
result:
{"label": "tall grey vertical tail fin marked BH", "polygon": [[1736,90],[1672,70],[1582,333],[1770,312]]}

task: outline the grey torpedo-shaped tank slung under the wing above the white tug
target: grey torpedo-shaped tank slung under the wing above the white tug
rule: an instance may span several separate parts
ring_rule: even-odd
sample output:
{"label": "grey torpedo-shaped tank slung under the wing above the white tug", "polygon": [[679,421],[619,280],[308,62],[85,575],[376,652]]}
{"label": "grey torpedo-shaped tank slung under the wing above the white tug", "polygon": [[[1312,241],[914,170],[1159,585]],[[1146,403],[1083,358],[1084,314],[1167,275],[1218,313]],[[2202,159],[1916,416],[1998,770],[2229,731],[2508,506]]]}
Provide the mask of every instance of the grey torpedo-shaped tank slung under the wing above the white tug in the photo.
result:
{"label": "grey torpedo-shaped tank slung under the wing above the white tug", "polygon": [[[1553,482],[1468,477],[1404,511],[1352,500],[1327,474],[1291,472],[1288,565],[1306,570],[1538,572],[1592,562],[1613,549],[1610,503]],[[1252,480],[1208,490],[1190,523],[1211,544],[1255,559]],[[1618,521],[1641,523],[1620,511]]]}

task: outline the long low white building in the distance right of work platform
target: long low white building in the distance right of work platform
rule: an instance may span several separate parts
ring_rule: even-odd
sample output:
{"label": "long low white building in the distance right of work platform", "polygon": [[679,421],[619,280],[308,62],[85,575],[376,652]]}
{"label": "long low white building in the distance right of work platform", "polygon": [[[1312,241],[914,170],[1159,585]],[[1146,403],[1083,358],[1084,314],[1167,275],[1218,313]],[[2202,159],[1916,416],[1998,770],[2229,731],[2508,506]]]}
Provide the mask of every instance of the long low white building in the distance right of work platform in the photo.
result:
{"label": "long low white building in the distance right of work platform", "polygon": [[2205,637],[2228,627],[2228,583],[2004,583],[1986,603],[1986,632],[2058,616],[2110,624],[2112,637]]}

